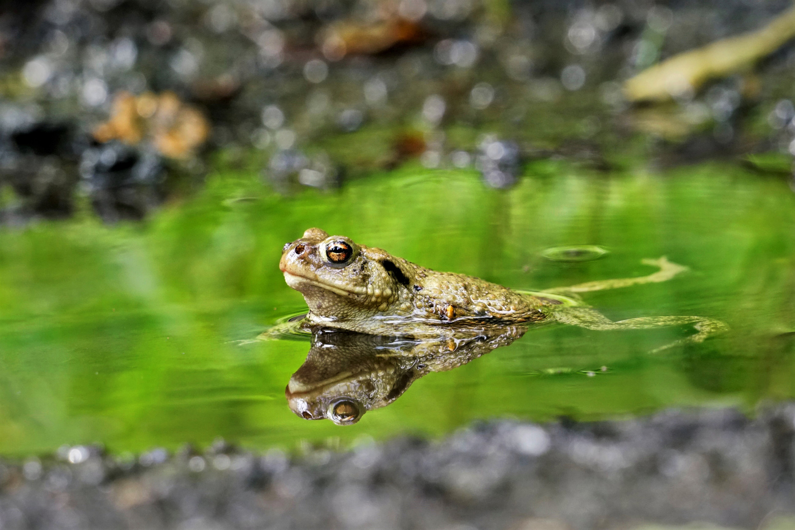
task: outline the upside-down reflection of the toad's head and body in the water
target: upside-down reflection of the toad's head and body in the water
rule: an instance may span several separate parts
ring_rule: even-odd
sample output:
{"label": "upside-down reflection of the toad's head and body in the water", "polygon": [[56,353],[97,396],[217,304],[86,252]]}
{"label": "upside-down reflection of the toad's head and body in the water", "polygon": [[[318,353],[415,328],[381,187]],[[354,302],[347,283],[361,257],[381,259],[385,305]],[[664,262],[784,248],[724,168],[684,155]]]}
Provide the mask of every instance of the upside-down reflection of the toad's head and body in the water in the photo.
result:
{"label": "upside-down reflection of the toad's head and body in the water", "polygon": [[368,410],[401,397],[425,374],[465,365],[509,345],[525,331],[505,326],[433,340],[315,331],[306,361],[290,377],[285,396],[302,418],[355,424]]}

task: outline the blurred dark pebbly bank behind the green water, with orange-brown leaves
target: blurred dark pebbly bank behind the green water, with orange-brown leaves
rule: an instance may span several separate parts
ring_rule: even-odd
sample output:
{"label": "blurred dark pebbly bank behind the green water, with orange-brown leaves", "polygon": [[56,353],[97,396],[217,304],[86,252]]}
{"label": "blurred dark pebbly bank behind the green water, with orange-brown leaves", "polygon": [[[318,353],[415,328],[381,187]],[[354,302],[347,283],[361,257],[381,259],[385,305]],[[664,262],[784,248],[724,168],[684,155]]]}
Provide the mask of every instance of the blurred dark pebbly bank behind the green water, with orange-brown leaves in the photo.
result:
{"label": "blurred dark pebbly bank behind the green water, with orange-brown leaves", "polygon": [[675,104],[638,110],[628,103],[648,94],[622,83],[679,52],[762,29],[788,7],[6,2],[3,219],[142,219],[200,188],[220,156],[291,193],[409,162],[476,168],[487,186],[508,188],[522,162],[538,158],[607,170],[632,156],[668,166],[786,153],[786,20],[756,56],[748,45],[727,48],[739,55],[733,68],[711,73],[720,60],[705,56],[704,75],[689,79],[682,68],[679,81],[646,83]]}

